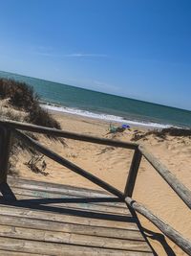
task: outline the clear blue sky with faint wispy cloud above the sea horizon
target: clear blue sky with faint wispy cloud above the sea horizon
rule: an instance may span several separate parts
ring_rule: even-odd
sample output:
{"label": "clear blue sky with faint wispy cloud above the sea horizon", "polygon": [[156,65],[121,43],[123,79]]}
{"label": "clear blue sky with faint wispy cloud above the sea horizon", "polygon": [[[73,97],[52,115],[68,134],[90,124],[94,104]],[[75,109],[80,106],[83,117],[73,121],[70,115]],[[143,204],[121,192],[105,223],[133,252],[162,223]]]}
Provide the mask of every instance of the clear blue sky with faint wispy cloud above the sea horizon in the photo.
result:
{"label": "clear blue sky with faint wispy cloud above the sea horizon", "polygon": [[0,7],[0,70],[191,110],[190,0]]}

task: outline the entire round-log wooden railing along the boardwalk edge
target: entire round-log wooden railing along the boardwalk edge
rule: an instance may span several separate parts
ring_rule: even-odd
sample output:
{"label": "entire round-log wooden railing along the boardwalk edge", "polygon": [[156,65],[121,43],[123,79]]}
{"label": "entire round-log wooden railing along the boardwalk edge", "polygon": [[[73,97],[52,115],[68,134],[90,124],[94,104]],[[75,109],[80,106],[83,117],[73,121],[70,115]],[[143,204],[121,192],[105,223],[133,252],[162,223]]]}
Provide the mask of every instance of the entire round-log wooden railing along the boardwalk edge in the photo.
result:
{"label": "entire round-log wooden railing along the boardwalk edge", "polygon": [[[133,150],[134,156],[129,170],[129,175],[127,177],[124,193],[120,192],[119,190],[117,190],[117,188],[96,177],[96,175],[92,175],[91,173],[81,169],[64,157],[40,145],[37,141],[23,134],[19,130],[28,130],[56,137],[64,137],[79,141],[86,141],[90,143]],[[138,175],[139,164],[143,155],[147,159],[147,161],[155,168],[159,175],[170,185],[170,187],[176,192],[176,194],[191,209],[191,191],[186,188],[175,175],[173,175],[163,164],[159,162],[159,160],[152,153],[148,152],[143,146],[140,146],[136,143],[127,143],[105,138],[97,138],[54,128],[37,127],[12,121],[0,121],[0,184],[7,183],[11,136],[15,136],[17,139],[22,140],[25,144],[34,148],[36,151],[41,152],[42,154],[48,156],[62,166],[69,168],[74,173],[82,175],[99,187],[112,193],[118,198],[121,198],[127,203],[127,205],[129,205],[139,214],[147,218],[149,221],[153,222],[165,236],[167,236],[175,244],[178,244],[183,251],[188,253],[188,255],[191,255],[191,241],[184,239],[177,230],[175,230],[164,221],[159,220],[159,218],[155,216],[150,210],[148,210],[146,207],[144,207],[142,204],[138,203],[132,198],[134,187],[136,184],[136,178]]]}

